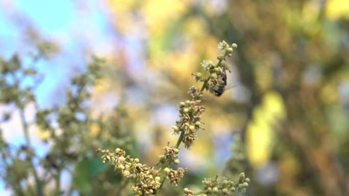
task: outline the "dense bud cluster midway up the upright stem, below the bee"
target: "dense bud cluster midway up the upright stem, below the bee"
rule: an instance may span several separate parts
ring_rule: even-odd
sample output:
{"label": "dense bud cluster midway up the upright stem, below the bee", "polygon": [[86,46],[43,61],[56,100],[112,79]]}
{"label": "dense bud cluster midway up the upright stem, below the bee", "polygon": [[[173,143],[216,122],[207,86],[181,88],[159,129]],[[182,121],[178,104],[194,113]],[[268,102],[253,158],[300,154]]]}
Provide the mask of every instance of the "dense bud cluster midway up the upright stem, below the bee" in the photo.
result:
{"label": "dense bud cluster midway up the upright stem, below the bee", "polygon": [[[194,87],[190,88],[189,92],[197,92]],[[194,97],[200,97],[202,92],[192,94]],[[204,113],[205,107],[200,105],[201,100],[193,98],[191,101],[186,100],[180,102],[179,111],[181,119],[176,122],[176,125],[172,126],[174,134],[184,132],[183,143],[186,148],[189,148],[197,135],[197,132],[201,127],[200,115]]]}

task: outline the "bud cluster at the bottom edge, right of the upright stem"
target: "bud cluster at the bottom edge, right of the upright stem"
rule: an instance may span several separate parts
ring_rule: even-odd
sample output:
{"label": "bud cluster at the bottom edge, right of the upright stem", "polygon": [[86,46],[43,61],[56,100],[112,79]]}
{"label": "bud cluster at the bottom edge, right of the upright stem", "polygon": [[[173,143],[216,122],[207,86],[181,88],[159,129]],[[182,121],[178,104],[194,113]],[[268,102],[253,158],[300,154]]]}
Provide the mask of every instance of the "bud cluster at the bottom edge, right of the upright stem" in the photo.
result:
{"label": "bud cluster at the bottom edge, right of the upright stem", "polygon": [[220,180],[218,177],[215,179],[205,179],[203,181],[205,186],[203,195],[234,195],[235,192],[245,192],[248,182],[250,182],[250,179],[245,178],[244,173],[239,174],[237,183],[229,179]]}

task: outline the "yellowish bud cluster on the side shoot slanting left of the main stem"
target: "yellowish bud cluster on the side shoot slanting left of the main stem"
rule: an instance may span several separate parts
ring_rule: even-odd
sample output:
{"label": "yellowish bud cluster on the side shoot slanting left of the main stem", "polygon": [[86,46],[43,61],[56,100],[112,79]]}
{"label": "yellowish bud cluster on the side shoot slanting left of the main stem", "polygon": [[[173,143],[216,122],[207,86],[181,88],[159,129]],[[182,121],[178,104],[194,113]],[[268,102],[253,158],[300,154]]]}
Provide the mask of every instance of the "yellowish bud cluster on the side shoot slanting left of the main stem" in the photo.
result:
{"label": "yellowish bud cluster on the side shoot slanting left of the main stem", "polygon": [[124,177],[136,182],[132,186],[136,195],[153,194],[160,188],[160,172],[154,167],[139,163],[138,158],[131,158],[129,155],[125,157],[125,151],[119,148],[115,152],[103,149],[98,149],[97,152],[104,154],[103,163],[110,163],[115,171],[120,171]]}

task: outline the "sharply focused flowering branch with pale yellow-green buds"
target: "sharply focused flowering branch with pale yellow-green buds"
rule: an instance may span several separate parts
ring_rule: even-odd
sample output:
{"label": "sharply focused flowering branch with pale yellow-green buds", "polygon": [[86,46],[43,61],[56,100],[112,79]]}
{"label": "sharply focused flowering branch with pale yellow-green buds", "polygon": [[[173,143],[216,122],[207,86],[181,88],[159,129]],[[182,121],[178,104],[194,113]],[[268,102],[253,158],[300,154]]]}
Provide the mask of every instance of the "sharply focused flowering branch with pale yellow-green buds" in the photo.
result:
{"label": "sharply focused flowering branch with pale yellow-green buds", "polygon": [[[203,129],[201,115],[204,113],[205,107],[200,105],[200,103],[204,90],[209,91],[215,96],[220,96],[225,91],[227,86],[226,71],[230,71],[226,57],[231,57],[233,48],[236,47],[236,44],[229,46],[225,41],[220,42],[218,44],[218,49],[224,53],[218,55],[218,62],[214,64],[210,60],[204,60],[201,63],[204,70],[209,72],[209,76],[204,78],[201,72],[192,74],[195,81],[202,81],[204,83],[200,89],[191,86],[188,94],[192,99],[180,102],[180,120],[176,121],[176,125],[173,125],[171,128],[174,134],[179,134],[178,141],[175,146],[164,147],[164,154],[159,156],[159,161],[156,164],[156,166],[160,167],[159,169],[155,169],[155,166],[147,167],[145,164],[139,163],[137,158],[134,159],[130,156],[124,157],[125,152],[119,148],[115,150],[115,153],[111,153],[109,150],[97,150],[104,154],[102,156],[103,163],[108,162],[112,164],[115,171],[120,171],[124,177],[129,178],[134,182],[132,188],[136,196],[149,194],[155,194],[156,196],[160,195],[162,186],[166,179],[168,179],[172,185],[178,186],[180,179],[184,177],[184,173],[187,169],[178,167],[177,170],[175,170],[172,169],[170,165],[172,162],[176,165],[180,163],[178,153],[180,151],[179,147],[181,143],[184,144],[185,148],[189,149],[193,145],[198,131]],[[228,179],[219,181],[216,177],[214,180],[208,179],[204,181],[204,190],[193,193],[193,191],[185,188],[184,193],[187,196],[200,194],[207,195],[212,193],[228,195],[230,192],[234,191],[245,191],[249,181],[250,179],[245,179],[244,173],[239,175],[238,183],[234,183]]]}

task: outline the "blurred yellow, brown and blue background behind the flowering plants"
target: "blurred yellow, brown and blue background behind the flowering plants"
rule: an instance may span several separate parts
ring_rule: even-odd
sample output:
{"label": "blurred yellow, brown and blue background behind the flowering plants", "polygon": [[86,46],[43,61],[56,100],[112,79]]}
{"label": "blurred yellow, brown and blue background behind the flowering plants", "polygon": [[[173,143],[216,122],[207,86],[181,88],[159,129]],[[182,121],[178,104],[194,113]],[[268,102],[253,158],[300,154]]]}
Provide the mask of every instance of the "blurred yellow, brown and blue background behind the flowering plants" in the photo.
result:
{"label": "blurred yellow, brown and blue background behind the flowering plants", "polygon": [[[91,116],[111,116],[109,129],[97,137],[102,129],[91,124],[85,134],[101,144],[112,140],[111,150],[121,144],[149,165],[176,141],[170,127],[195,85],[190,74],[203,59],[215,60],[219,41],[237,43],[228,74],[237,86],[219,98],[205,94],[205,131],[180,153],[190,171],[181,186],[244,171],[251,178],[246,195],[349,195],[347,0],[0,1],[4,59],[18,52],[33,66],[40,39],[57,51],[35,64],[44,75],[34,90],[38,107],[64,106],[70,79],[86,70],[91,54],[106,58],[87,104]],[[19,112],[1,103],[0,113],[8,111],[2,134],[20,148]],[[28,104],[29,121],[35,113]],[[47,132],[30,132],[38,159],[46,157]],[[61,171],[63,195],[117,195],[119,176],[89,150]],[[182,194],[178,189],[164,195]],[[0,180],[0,195],[12,194]]]}

